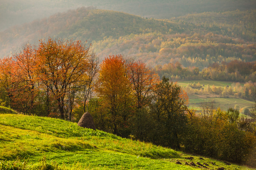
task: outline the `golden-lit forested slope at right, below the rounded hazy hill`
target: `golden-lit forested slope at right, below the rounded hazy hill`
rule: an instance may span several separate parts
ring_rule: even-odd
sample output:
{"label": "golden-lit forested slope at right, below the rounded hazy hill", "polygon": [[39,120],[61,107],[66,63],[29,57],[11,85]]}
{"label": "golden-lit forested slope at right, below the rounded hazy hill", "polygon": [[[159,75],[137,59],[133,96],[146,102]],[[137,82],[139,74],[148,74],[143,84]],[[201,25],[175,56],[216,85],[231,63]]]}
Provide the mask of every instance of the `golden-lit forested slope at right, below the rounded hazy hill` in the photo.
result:
{"label": "golden-lit forested slope at right, below the rounded hazy hill", "polygon": [[[208,16],[212,19],[208,20]],[[110,51],[122,53],[142,59],[151,66],[179,61],[185,67],[203,68],[213,62],[254,61],[254,16],[255,11],[187,15],[165,21],[177,24],[177,31],[143,33],[119,39],[110,37],[93,44],[99,55],[104,56]]]}

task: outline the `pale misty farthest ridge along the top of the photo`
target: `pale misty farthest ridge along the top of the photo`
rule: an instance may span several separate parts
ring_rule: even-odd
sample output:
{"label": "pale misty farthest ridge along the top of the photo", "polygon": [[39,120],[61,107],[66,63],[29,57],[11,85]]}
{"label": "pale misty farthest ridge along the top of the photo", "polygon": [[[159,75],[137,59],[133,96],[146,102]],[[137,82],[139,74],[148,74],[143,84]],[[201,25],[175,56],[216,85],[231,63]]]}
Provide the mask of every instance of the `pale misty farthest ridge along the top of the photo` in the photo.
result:
{"label": "pale misty farthest ridge along the top of the photo", "polygon": [[254,0],[0,0],[0,31],[81,6],[170,19],[188,13],[255,9]]}

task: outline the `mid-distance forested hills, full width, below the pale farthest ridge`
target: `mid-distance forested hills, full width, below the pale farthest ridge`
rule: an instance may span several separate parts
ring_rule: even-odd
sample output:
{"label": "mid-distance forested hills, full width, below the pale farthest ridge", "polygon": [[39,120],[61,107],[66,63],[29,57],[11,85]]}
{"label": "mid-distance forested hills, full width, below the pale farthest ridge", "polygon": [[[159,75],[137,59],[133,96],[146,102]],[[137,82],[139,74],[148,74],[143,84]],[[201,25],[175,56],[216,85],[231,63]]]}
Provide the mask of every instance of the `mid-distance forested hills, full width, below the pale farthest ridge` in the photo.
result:
{"label": "mid-distance forested hills, full width, below the pale farthest ridge", "polygon": [[100,58],[123,54],[150,66],[178,61],[202,70],[214,62],[255,61],[255,13],[205,12],[157,20],[78,8],[1,32],[0,52],[8,55],[26,41],[65,37],[87,40]]}

